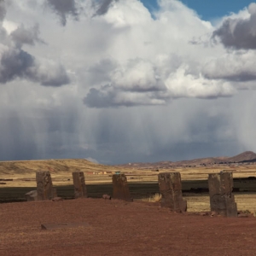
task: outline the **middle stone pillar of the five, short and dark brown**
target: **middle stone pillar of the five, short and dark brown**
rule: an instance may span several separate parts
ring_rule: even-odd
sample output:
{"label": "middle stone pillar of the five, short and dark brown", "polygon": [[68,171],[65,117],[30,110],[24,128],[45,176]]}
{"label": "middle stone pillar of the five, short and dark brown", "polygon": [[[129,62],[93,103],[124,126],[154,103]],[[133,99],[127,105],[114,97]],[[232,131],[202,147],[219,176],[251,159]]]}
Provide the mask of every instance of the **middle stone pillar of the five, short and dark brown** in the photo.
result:
{"label": "middle stone pillar of the five, short and dark brown", "polygon": [[113,199],[132,201],[125,174],[113,174]]}

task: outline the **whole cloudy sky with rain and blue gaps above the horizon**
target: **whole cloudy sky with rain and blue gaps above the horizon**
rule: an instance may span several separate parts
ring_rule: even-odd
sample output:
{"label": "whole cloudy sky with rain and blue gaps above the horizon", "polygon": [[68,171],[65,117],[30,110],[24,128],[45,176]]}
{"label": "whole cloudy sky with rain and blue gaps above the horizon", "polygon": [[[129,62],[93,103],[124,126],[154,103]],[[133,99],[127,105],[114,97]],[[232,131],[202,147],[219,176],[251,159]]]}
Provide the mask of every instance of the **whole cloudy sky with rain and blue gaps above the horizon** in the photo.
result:
{"label": "whole cloudy sky with rain and blue gaps above the horizon", "polygon": [[0,0],[0,160],[256,151],[255,82],[251,1]]}

